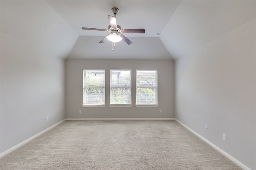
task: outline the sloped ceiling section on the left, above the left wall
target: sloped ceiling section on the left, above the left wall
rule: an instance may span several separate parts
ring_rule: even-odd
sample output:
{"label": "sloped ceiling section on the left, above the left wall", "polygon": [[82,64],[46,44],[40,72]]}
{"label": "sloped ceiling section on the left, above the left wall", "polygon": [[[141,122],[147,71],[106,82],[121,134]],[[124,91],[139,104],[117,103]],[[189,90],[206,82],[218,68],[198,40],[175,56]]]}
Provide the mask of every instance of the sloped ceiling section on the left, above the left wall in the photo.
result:
{"label": "sloped ceiling section on the left, above the left wall", "polygon": [[0,1],[1,33],[54,57],[70,53],[77,33],[46,1]]}

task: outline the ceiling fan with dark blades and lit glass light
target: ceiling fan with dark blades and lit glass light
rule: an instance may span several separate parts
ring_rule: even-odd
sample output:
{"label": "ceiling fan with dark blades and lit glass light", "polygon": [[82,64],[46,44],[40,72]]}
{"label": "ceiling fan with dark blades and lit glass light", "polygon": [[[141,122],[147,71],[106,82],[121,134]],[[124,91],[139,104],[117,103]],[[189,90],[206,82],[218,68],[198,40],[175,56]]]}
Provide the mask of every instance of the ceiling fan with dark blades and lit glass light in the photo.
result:
{"label": "ceiling fan with dark blades and lit glass light", "polygon": [[[82,29],[110,32],[106,37],[104,37],[100,41],[100,43],[105,43],[107,40],[111,41],[112,43],[117,43],[123,40],[128,45],[132,44],[132,41],[130,41],[130,39],[122,35],[122,33],[145,33],[145,29],[121,29],[121,27],[116,24],[116,14],[119,12],[119,9],[112,8],[111,11],[113,12],[114,16],[108,16],[108,20],[110,22],[108,29],[87,28],[87,27],[82,27]],[[112,51],[113,51],[113,48],[112,48]]]}

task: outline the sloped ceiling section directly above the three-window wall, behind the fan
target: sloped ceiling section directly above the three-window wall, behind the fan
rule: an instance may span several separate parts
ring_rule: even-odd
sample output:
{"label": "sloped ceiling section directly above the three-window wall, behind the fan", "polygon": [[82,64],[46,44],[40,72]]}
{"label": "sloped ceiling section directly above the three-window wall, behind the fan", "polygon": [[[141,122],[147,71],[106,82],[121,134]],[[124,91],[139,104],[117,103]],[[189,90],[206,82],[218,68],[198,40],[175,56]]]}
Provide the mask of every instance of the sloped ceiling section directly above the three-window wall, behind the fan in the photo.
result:
{"label": "sloped ceiling section directly above the three-window wall, behind the fan", "polygon": [[99,43],[100,36],[79,36],[68,59],[128,59],[170,60],[172,59],[159,37],[129,37],[134,43],[124,41],[113,47],[110,41]]}

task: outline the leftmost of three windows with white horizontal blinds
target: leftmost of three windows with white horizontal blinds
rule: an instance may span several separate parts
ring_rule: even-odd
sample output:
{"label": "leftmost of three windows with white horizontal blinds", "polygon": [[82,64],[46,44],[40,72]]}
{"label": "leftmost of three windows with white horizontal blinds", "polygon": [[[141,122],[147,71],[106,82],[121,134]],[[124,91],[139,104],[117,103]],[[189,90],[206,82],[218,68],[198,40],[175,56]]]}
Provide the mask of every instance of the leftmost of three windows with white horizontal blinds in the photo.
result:
{"label": "leftmost of three windows with white horizontal blinds", "polygon": [[105,70],[84,70],[84,106],[105,106]]}

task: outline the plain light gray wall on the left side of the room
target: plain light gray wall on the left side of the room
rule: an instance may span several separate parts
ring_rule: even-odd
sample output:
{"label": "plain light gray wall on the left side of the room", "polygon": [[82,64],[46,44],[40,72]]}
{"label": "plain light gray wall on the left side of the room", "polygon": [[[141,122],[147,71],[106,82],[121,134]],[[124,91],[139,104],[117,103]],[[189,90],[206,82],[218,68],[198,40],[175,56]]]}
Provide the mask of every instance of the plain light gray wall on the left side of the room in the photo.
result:
{"label": "plain light gray wall on the left side of the room", "polygon": [[65,118],[64,66],[1,33],[1,153]]}

